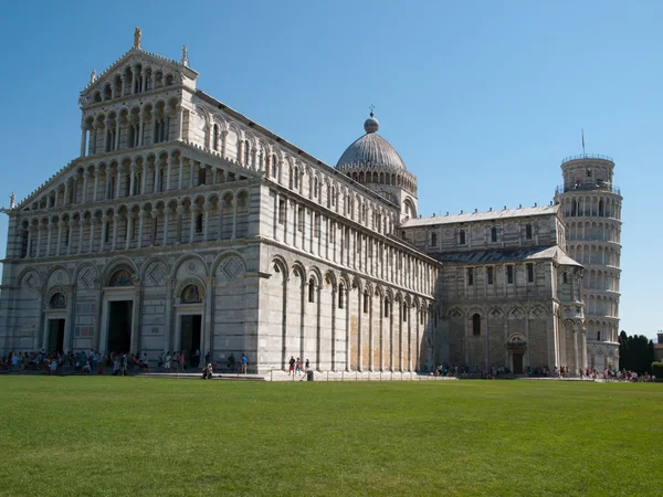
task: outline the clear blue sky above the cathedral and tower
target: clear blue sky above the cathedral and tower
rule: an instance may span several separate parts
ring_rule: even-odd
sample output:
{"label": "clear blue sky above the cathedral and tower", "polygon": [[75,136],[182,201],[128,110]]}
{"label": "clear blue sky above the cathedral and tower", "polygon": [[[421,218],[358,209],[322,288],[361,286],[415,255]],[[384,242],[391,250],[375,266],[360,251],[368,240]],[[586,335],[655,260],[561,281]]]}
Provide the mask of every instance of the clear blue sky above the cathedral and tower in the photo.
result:
{"label": "clear blue sky above the cathedral and tower", "polygon": [[423,215],[547,204],[585,129],[624,195],[620,329],[653,337],[661,19],[663,2],[635,0],[18,2],[0,19],[0,205],[76,158],[78,92],[138,25],[148,51],[187,44],[199,88],[329,165],[373,104]]}

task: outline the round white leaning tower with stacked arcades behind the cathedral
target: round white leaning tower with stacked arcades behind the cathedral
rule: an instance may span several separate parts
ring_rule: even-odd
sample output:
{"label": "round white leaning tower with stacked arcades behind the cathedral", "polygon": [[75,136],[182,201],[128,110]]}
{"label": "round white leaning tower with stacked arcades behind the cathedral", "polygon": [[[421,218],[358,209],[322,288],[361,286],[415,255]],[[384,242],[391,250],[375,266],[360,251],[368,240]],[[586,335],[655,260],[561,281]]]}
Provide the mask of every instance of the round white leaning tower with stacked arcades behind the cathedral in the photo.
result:
{"label": "round white leaning tower with stacked arcades behind the cathedral", "polygon": [[555,191],[566,225],[567,251],[585,266],[587,363],[619,368],[619,268],[622,195],[612,183],[614,161],[588,155],[561,161]]}

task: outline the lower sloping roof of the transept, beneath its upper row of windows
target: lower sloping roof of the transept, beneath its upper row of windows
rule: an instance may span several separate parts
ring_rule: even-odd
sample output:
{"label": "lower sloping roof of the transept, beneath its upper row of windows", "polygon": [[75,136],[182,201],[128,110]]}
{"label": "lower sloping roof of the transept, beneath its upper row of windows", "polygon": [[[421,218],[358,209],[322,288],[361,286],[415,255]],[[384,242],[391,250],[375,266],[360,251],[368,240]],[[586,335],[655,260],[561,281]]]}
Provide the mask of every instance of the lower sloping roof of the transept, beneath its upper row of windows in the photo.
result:
{"label": "lower sloping roof of the transept, beneath its upper row of windows", "polygon": [[442,252],[430,254],[431,257],[443,264],[485,264],[499,262],[519,262],[519,261],[540,261],[552,260],[557,264],[565,266],[582,267],[559,245],[548,247],[535,246],[527,248],[504,248],[495,251],[466,251],[466,252]]}

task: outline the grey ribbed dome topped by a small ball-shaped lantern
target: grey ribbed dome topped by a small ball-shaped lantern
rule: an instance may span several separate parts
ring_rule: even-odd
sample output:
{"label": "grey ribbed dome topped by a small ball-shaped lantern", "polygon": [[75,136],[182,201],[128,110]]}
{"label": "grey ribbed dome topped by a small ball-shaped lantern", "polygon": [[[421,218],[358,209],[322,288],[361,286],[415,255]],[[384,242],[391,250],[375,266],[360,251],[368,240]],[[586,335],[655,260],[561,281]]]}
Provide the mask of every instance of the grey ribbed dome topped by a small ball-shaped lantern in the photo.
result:
{"label": "grey ribbed dome topped by a small ball-shaped lantern", "polygon": [[364,123],[366,135],[355,140],[338,159],[336,169],[340,171],[370,169],[385,172],[404,172],[408,169],[403,159],[385,138],[377,134],[380,123],[370,113]]}

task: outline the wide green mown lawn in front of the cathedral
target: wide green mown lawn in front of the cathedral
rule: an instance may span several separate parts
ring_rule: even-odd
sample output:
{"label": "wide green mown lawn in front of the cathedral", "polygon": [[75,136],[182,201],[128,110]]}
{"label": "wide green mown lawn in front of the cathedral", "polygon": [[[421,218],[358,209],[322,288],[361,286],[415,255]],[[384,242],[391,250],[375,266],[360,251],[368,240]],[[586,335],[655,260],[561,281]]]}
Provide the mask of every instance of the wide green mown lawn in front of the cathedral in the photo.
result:
{"label": "wide green mown lawn in front of the cathedral", "polygon": [[0,495],[662,495],[663,384],[2,377]]}

